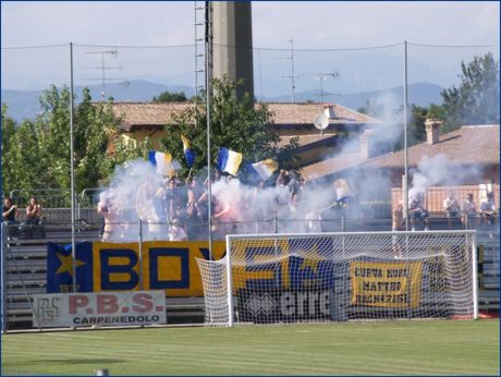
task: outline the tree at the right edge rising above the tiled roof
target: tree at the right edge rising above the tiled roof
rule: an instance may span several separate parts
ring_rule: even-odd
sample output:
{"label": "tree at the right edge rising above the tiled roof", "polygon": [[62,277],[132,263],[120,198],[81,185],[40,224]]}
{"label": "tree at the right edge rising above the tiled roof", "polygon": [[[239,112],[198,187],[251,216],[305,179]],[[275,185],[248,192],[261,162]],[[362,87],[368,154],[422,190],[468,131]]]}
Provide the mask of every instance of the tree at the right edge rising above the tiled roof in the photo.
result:
{"label": "tree at the right edge rising above the tiled roof", "polygon": [[461,63],[461,85],[442,90],[444,126],[499,123],[499,61],[492,53]]}

